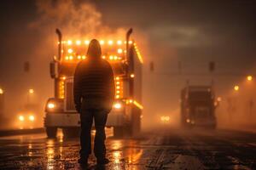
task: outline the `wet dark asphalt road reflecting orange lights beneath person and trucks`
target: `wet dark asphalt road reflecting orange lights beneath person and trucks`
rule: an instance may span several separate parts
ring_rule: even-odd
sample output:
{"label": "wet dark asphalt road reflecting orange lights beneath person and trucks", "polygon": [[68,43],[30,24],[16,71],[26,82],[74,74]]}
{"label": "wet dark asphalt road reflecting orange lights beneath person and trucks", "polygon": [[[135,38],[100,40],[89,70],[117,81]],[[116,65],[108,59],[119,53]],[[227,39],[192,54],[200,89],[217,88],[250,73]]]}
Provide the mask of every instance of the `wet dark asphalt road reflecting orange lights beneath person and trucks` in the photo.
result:
{"label": "wet dark asphalt road reflecting orange lights beneath person and trucks", "polygon": [[[159,129],[139,139],[106,141],[105,169],[256,169],[256,133]],[[79,139],[47,139],[44,133],[0,138],[0,169],[83,169]],[[89,169],[96,166],[90,157]],[[85,169],[85,168],[84,168]]]}

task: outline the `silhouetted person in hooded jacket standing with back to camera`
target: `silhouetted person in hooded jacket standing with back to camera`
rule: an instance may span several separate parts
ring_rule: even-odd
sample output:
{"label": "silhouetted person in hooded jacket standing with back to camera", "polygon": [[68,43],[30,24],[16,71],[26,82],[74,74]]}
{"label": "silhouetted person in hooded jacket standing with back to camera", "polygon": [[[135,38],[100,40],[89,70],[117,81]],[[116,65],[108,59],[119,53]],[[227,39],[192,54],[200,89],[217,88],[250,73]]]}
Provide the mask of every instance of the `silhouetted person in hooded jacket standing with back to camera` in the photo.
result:
{"label": "silhouetted person in hooded jacket standing with back to camera", "polygon": [[81,133],[80,164],[88,163],[91,153],[90,130],[94,119],[96,136],[94,154],[97,164],[108,164],[105,147],[105,125],[114,99],[113,70],[102,59],[100,43],[90,41],[87,59],[79,62],[74,74],[73,96],[76,110],[80,113]]}

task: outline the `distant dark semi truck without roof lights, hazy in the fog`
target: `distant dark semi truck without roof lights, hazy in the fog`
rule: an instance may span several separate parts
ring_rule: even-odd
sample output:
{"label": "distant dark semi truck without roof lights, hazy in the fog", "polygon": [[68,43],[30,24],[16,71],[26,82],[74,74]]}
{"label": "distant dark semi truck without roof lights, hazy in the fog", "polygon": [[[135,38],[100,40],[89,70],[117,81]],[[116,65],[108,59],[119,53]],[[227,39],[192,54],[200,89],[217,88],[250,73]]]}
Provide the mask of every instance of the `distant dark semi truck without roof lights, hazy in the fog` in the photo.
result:
{"label": "distant dark semi truck without roof lights, hazy in the fog", "polygon": [[208,127],[217,125],[215,101],[212,86],[187,86],[181,91],[182,127]]}

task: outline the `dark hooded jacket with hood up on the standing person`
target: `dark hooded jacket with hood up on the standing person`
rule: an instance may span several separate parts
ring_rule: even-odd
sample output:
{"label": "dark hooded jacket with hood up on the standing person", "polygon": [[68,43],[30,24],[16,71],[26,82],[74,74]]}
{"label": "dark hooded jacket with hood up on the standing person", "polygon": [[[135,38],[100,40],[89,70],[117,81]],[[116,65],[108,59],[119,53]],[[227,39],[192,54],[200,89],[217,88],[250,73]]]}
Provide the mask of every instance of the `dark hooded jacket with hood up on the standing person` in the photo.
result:
{"label": "dark hooded jacket with hood up on the standing person", "polygon": [[89,44],[87,59],[79,62],[74,74],[73,97],[76,110],[105,109],[110,111],[114,99],[113,70],[102,59],[100,43],[93,39]]}

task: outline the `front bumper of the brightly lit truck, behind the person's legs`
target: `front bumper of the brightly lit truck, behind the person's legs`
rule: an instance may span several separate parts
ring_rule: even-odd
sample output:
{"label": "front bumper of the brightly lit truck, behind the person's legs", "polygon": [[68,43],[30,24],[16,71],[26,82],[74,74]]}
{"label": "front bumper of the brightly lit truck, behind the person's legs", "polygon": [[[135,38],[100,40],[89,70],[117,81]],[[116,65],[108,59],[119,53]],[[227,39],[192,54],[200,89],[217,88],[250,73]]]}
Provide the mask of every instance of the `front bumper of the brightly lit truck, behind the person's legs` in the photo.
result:
{"label": "front bumper of the brightly lit truck, behind the person's legs", "polygon": [[[81,124],[79,113],[46,113],[44,127],[79,127]],[[125,116],[121,112],[108,114],[107,127],[124,126]],[[94,123],[93,123],[94,126]]]}

